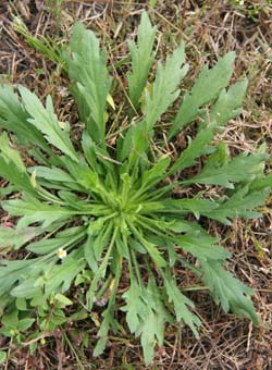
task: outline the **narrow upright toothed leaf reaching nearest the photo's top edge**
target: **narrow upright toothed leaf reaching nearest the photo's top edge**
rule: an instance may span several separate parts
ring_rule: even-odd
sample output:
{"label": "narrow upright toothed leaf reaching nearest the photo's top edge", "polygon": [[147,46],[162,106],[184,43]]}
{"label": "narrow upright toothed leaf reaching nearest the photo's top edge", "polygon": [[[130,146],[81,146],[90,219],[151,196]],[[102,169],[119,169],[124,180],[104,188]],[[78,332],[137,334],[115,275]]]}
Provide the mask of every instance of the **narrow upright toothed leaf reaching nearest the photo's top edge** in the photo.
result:
{"label": "narrow upright toothed leaf reaching nearest the photo's top edge", "polygon": [[136,110],[139,109],[139,98],[147,84],[148,73],[154,59],[152,49],[156,30],[157,27],[151,26],[148,14],[144,12],[137,33],[137,44],[128,41],[132,55],[132,72],[127,74],[128,94]]}

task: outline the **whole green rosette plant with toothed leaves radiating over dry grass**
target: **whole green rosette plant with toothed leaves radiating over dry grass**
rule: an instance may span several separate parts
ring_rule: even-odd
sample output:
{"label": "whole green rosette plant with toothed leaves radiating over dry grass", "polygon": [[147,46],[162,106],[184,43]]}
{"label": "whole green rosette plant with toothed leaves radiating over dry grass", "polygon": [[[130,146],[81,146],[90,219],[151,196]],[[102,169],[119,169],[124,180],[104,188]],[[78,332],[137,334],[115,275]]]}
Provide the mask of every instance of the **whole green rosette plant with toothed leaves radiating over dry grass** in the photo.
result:
{"label": "whole green rosette plant with toothed leaves radiating over dry grass", "polygon": [[[65,307],[79,303],[78,317],[101,312],[98,356],[109,331],[118,332],[121,310],[131,333],[140,337],[148,365],[154,345],[163,344],[165,323],[182,322],[199,335],[194,303],[177,284],[177,263],[203,282],[225,312],[258,324],[251,288],[226,270],[231,254],[198,222],[208,218],[231,225],[233,218],[257,218],[271,192],[264,144],[232,158],[223,141],[213,140],[240,113],[247,81],[227,87],[235,59],[228,52],[212,69],[205,66],[180,99],[188,71],[185,45],[159,61],[149,77],[154,39],[156,27],[144,13],[137,40],[128,42],[122,102],[127,123],[113,125],[107,52],[91,30],[74,26],[62,58],[84,125],[76,148],[50,96],[44,104],[23,86],[1,86],[0,175],[7,181],[1,195],[8,197],[1,206],[14,222],[0,227],[2,334],[20,341],[32,326],[61,328]],[[173,159],[169,143],[193,122],[196,135]],[[205,186],[189,197],[185,190],[195,184]],[[119,294],[121,280],[126,289]]]}

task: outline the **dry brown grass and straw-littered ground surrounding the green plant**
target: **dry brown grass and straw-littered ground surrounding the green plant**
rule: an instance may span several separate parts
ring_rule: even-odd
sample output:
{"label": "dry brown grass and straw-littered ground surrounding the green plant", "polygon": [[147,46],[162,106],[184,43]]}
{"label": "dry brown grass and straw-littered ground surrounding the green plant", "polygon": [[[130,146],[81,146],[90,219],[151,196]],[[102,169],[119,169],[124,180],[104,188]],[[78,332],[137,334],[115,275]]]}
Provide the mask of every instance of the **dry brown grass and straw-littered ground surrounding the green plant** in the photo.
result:
{"label": "dry brown grass and straw-littered ground surrounding the green plant", "polygon": [[[134,37],[143,9],[149,9],[151,20],[159,28],[158,59],[163,59],[177,40],[186,41],[191,72],[185,88],[190,86],[203,63],[212,63],[230,50],[236,51],[233,81],[246,75],[249,87],[243,114],[231,121],[218,139],[227,143],[233,153],[252,151],[257,144],[265,140],[271,153],[272,3],[269,0],[1,0],[0,78],[35,89],[41,97],[53,91],[59,97],[57,104],[73,121],[73,104],[66,94],[65,77],[53,62],[30,47],[14,29],[14,22],[23,21],[32,35],[51,37],[57,45],[63,45],[74,22],[82,20],[101,37],[115,62],[126,55],[125,41]],[[268,173],[271,169],[270,160]],[[127,332],[110,337],[106,354],[92,358],[91,345],[83,345],[83,333],[94,333],[94,322],[84,321],[77,324],[76,333],[79,334],[76,337],[69,329],[65,335],[52,333],[33,356],[27,346],[14,348],[0,337],[0,346],[10,346],[11,355],[1,369],[271,370],[271,205],[270,198],[262,209],[263,215],[258,220],[236,220],[232,226],[215,222],[207,224],[210,233],[220,237],[233,252],[230,270],[255,289],[259,328],[254,328],[248,320],[223,313],[207,292],[198,291],[190,293],[190,296],[203,322],[200,338],[196,340],[187,328],[181,325],[166,328],[164,347],[158,348],[149,368],[144,366],[138,340]],[[183,279],[188,281],[190,276],[188,274]]]}

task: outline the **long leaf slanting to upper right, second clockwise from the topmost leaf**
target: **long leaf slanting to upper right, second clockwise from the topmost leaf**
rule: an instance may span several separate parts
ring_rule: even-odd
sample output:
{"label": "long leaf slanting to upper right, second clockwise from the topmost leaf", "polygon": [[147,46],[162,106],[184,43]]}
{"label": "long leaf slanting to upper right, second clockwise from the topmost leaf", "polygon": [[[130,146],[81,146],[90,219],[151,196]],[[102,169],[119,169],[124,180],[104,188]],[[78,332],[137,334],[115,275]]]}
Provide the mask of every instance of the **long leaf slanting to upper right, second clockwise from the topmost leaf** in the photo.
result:
{"label": "long leaf slanting to upper right, second clockwise from the topmost leaf", "polygon": [[186,92],[182,106],[169,132],[169,139],[198,116],[199,108],[217,98],[220,90],[227,86],[233,74],[234,52],[220,58],[213,69],[205,66],[190,92]]}

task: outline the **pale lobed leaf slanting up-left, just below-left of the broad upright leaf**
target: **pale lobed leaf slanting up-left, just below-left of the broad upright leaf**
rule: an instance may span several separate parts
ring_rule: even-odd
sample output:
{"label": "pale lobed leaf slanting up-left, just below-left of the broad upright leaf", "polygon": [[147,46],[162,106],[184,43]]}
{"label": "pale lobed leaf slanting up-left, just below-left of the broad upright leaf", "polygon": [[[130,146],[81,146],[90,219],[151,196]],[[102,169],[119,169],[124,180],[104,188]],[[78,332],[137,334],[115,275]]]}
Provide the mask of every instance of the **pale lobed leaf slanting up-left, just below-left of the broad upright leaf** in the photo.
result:
{"label": "pale lobed leaf slanting up-left, just below-left of the broad upright leaf", "polygon": [[61,128],[58,118],[54,114],[51,97],[47,97],[45,108],[34,92],[30,92],[23,86],[20,86],[18,90],[24,107],[30,115],[27,121],[45,135],[48,143],[55,146],[75,162],[78,162],[78,156],[71,143],[69,133]]}

